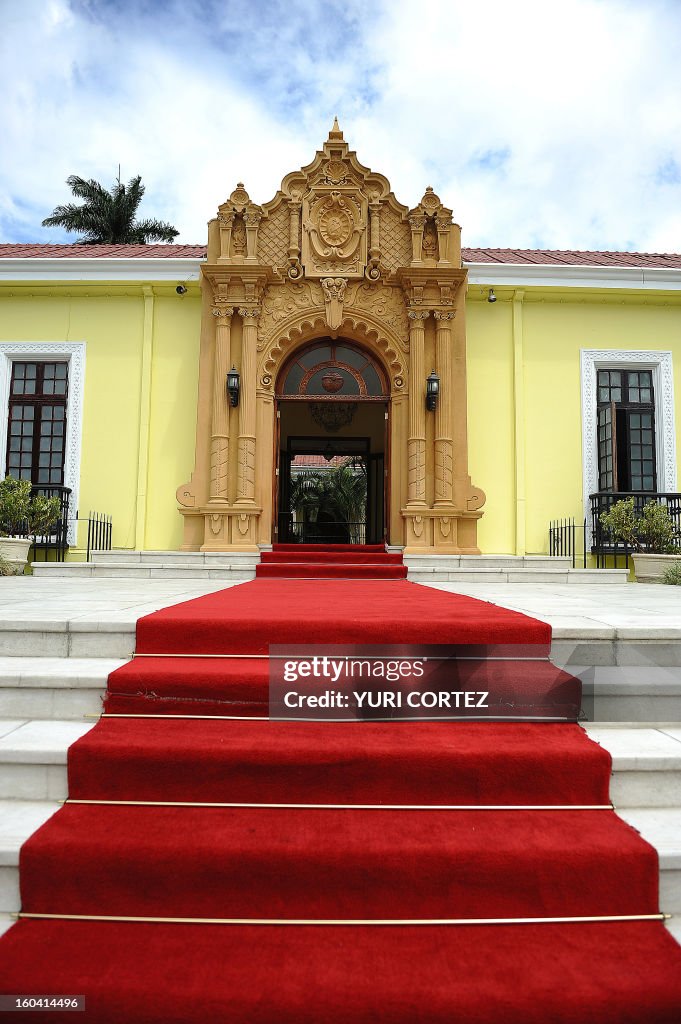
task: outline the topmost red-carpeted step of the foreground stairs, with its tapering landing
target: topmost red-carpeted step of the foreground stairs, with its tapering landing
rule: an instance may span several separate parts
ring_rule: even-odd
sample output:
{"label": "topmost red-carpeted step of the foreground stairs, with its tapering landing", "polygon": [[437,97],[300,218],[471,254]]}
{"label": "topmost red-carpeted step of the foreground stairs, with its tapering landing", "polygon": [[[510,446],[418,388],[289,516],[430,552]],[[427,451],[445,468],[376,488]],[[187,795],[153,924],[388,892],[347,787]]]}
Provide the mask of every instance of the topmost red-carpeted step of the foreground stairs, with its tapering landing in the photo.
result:
{"label": "topmost red-carpeted step of the foreground stairs, with its tapering landing", "polygon": [[543,647],[551,628],[407,580],[255,580],[140,618],[142,653],[262,653],[271,644],[511,643]]}

